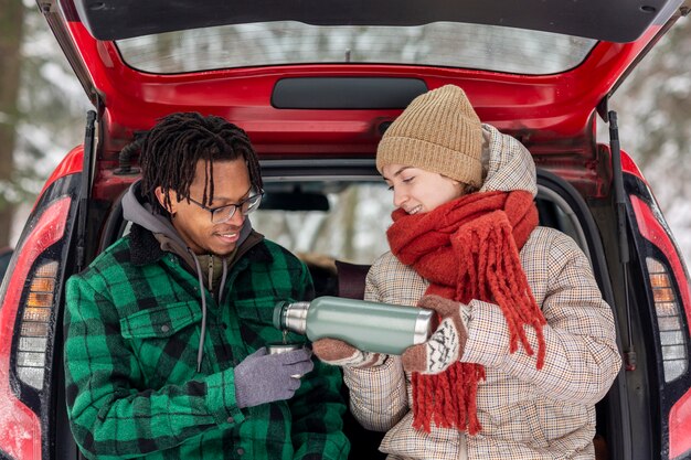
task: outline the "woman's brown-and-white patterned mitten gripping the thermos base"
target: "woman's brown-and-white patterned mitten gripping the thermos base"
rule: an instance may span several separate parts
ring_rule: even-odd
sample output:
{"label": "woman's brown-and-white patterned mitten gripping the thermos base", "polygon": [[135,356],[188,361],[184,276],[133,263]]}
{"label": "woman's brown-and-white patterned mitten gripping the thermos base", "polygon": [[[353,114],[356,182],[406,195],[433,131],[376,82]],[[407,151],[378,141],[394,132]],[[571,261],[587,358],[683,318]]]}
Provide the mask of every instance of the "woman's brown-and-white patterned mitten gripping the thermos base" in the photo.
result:
{"label": "woman's brown-and-white patterned mitten gripping the thermos base", "polygon": [[439,296],[424,296],[418,307],[434,310],[442,322],[425,343],[413,345],[403,352],[403,368],[407,372],[438,374],[460,359],[468,340],[464,306]]}

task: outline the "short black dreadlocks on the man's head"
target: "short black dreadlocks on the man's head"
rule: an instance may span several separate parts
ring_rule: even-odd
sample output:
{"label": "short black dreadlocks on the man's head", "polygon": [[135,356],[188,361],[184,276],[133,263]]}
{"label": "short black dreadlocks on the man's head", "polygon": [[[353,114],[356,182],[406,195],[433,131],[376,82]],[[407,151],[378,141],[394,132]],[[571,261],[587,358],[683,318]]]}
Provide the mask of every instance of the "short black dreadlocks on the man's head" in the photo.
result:
{"label": "short black dreadlocks on the man's head", "polygon": [[171,114],[151,128],[141,146],[141,193],[150,203],[157,204],[155,191],[160,186],[166,196],[164,207],[171,204],[171,191],[176,192],[177,200],[188,197],[196,163],[205,160],[202,204],[208,205],[214,194],[214,161],[238,158],[247,164],[252,185],[262,189],[259,160],[244,130],[221,117]]}

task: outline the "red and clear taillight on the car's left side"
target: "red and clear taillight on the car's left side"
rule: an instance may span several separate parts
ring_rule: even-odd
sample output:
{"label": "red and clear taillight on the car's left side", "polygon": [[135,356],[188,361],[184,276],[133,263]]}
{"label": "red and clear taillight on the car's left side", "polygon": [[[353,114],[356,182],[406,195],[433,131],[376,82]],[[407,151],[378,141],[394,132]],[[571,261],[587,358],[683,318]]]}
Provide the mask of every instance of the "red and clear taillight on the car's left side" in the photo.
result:
{"label": "red and clear taillight on the car's left side", "polygon": [[41,395],[46,381],[59,267],[54,257],[46,254],[55,253],[51,247],[65,234],[71,203],[70,196],[60,197],[28,222],[29,231],[15,249],[14,267],[6,275],[9,280],[3,285],[0,309],[0,457],[15,460],[42,457],[40,416],[38,409],[23,400],[19,383]]}

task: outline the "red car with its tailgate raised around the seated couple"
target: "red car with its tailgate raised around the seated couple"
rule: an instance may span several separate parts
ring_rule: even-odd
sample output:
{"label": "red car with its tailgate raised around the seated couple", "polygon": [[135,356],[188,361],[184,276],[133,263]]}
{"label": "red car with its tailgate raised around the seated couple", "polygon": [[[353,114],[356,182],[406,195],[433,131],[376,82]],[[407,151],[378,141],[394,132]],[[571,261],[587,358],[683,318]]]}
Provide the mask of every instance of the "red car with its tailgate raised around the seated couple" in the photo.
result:
{"label": "red car with its tailgate raised around the seated couple", "polygon": [[[158,118],[193,110],[244,128],[266,185],[254,226],[309,261],[320,293],[357,297],[392,210],[378,141],[445,84],[530,149],[542,225],[581,245],[613,307],[625,367],[597,405],[598,459],[691,459],[689,277],[608,107],[688,1],[38,6],[94,108],[0,290],[0,459],[79,458],[64,400],[65,280],[127,232],[120,197]],[[376,458],[378,436],[348,427],[351,458]]]}

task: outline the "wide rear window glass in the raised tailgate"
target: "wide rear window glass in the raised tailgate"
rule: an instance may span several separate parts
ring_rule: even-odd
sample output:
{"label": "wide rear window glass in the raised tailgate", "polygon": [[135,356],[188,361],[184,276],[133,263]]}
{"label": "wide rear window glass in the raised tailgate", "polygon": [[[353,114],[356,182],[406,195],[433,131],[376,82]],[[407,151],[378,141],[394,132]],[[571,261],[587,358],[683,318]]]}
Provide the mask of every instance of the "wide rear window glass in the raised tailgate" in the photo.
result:
{"label": "wide rear window glass in the raised tailgate", "polygon": [[581,63],[597,42],[497,25],[434,22],[414,26],[233,24],[116,42],[125,62],[177,74],[263,65],[351,63],[476,68],[544,75]]}

